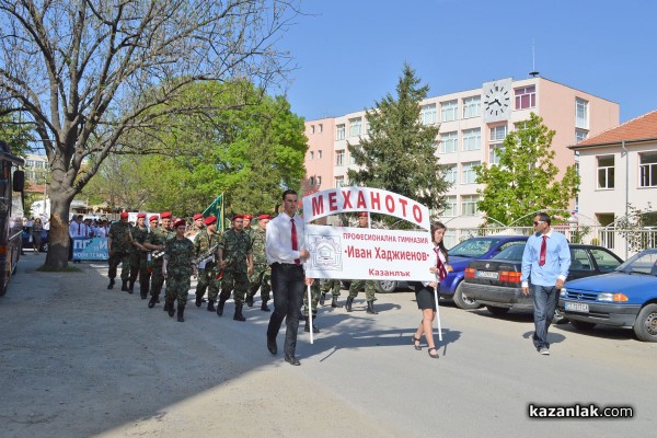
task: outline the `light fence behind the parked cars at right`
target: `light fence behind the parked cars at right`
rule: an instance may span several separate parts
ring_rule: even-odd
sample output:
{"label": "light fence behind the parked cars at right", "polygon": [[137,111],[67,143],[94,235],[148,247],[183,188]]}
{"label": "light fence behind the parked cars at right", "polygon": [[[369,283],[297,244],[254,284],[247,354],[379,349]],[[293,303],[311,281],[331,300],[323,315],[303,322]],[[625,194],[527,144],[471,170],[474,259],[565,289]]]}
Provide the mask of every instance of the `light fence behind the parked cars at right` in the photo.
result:
{"label": "light fence behind the parked cars at right", "polygon": [[[619,257],[627,260],[648,247],[657,246],[657,229],[619,230],[598,226],[556,224],[553,230],[562,232],[570,243],[586,243],[604,246]],[[452,228],[445,234],[445,246],[452,247],[465,239],[480,235],[522,234],[530,235],[532,227],[511,228]]]}

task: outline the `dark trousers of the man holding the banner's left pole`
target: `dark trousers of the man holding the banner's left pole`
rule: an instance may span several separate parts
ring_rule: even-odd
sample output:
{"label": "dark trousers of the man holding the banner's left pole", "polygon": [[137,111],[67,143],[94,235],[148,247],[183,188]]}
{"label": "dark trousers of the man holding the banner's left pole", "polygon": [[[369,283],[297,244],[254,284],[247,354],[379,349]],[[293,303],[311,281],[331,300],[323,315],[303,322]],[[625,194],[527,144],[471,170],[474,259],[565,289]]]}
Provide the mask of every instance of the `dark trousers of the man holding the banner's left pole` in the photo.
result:
{"label": "dark trousers of the man holding the banner's left pole", "polygon": [[275,339],[283,320],[287,316],[284,351],[293,356],[297,348],[297,332],[299,330],[299,309],[303,301],[304,285],[303,267],[274,263],[272,265],[272,291],[274,293],[274,312],[267,327],[267,338]]}

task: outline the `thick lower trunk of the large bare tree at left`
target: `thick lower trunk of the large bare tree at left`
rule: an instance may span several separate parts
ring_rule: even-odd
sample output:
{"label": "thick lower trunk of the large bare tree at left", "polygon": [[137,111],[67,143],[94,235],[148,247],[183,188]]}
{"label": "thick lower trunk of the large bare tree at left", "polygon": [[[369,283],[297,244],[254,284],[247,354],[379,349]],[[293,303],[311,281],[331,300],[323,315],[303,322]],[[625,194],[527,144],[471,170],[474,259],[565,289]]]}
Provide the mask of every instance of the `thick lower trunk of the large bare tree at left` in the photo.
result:
{"label": "thick lower trunk of the large bare tree at left", "polygon": [[68,266],[69,254],[69,209],[72,198],[57,191],[50,192],[50,234],[48,253],[44,267],[61,270]]}

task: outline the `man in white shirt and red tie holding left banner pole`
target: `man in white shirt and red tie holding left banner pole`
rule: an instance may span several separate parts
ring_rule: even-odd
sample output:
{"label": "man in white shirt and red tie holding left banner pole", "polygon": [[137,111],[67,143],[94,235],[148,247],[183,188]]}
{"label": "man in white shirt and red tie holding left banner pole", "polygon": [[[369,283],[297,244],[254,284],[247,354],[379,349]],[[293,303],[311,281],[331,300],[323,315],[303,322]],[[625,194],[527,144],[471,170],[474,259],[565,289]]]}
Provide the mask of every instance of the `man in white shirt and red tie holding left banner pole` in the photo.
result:
{"label": "man in white shirt and red tie holding left banner pole", "polygon": [[269,221],[265,241],[274,295],[274,312],[267,326],[267,349],[273,355],[278,353],[276,336],[283,320],[286,320],[285,361],[299,366],[301,362],[295,356],[299,309],[303,301],[304,285],[312,285],[313,279],[306,277],[303,270],[303,262],[310,257],[310,253],[306,249],[303,220],[297,216],[297,192],[285,191],[281,198],[284,211]]}

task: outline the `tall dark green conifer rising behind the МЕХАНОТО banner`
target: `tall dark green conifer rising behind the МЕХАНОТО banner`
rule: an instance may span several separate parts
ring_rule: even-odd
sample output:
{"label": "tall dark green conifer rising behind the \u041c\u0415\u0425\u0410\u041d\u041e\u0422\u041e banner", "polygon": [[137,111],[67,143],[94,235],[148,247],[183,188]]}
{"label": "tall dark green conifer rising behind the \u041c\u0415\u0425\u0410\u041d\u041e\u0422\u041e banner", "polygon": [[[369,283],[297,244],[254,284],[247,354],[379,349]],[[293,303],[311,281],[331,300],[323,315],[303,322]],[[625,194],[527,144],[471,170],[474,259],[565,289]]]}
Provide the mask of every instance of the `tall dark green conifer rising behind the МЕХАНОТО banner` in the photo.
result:
{"label": "tall dark green conifer rising behind the \u041c\u0415\u0425\u0410\u041d\u041e\u0422\u041e banner", "polygon": [[360,138],[360,145],[347,143],[359,166],[348,171],[348,178],[354,185],[387,189],[439,209],[449,184],[435,155],[439,127],[419,120],[419,104],[428,92],[419,82],[415,70],[404,65],[396,97],[389,93],[366,112],[368,137]]}

